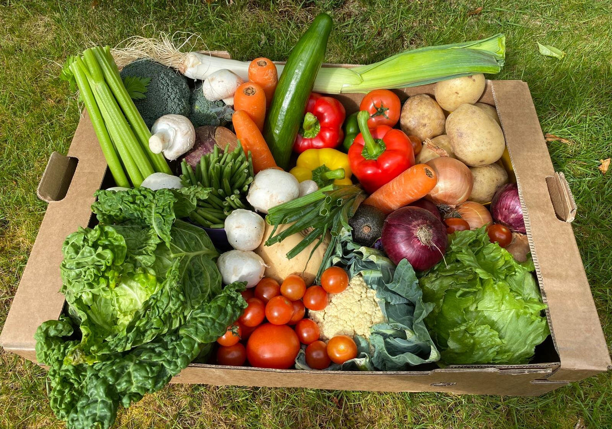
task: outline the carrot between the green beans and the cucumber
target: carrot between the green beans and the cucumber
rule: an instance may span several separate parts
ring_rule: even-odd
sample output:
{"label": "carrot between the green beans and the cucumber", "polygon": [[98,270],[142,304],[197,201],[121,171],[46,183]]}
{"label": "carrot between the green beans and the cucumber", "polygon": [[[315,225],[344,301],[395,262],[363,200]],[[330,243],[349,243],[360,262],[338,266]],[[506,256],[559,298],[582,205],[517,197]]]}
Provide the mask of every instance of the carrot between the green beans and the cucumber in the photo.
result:
{"label": "carrot between the green beans and the cucumber", "polygon": [[245,153],[251,152],[253,171],[258,173],[261,170],[266,170],[266,168],[276,167],[266,140],[264,140],[253,119],[248,116],[248,113],[244,110],[237,110],[234,112],[231,121],[234,124],[234,131],[236,131],[242,149]]}

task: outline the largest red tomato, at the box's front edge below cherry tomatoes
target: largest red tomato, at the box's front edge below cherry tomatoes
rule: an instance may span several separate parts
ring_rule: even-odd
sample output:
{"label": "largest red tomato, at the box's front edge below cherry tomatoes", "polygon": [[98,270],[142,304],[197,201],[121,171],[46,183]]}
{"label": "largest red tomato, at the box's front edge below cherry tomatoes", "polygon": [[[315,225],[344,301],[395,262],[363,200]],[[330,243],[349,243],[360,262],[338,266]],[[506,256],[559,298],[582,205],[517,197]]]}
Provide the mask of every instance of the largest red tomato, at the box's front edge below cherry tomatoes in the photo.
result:
{"label": "largest red tomato, at the box's front edge below cherry tomatoes", "polygon": [[266,323],[248,338],[247,359],[253,367],[286,370],[293,367],[300,340],[286,325]]}

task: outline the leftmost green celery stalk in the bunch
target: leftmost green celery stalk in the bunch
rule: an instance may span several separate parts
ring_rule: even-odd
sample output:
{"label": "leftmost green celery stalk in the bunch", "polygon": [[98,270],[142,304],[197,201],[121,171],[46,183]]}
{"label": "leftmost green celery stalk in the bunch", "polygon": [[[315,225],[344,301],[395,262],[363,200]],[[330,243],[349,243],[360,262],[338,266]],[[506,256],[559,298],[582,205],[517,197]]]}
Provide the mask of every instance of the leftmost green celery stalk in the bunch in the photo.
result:
{"label": "leftmost green celery stalk in the bunch", "polygon": [[115,150],[110,135],[108,134],[108,130],[106,129],[104,119],[102,118],[102,113],[100,112],[98,105],[95,103],[94,94],[89,86],[86,72],[81,69],[78,61],[80,61],[81,64],[83,63],[83,61],[78,58],[70,65],[70,70],[72,70],[72,74],[75,76],[76,86],[78,86],[81,99],[83,99],[83,103],[85,104],[85,108],[89,114],[89,119],[91,119],[91,124],[94,127],[95,135],[98,137],[98,141],[100,142],[100,148],[102,149],[102,153],[106,159],[108,170],[110,170],[111,174],[113,175],[113,179],[117,186],[129,188],[130,182],[128,181],[127,176],[125,176],[125,171],[123,171],[123,166],[121,165],[117,151]]}

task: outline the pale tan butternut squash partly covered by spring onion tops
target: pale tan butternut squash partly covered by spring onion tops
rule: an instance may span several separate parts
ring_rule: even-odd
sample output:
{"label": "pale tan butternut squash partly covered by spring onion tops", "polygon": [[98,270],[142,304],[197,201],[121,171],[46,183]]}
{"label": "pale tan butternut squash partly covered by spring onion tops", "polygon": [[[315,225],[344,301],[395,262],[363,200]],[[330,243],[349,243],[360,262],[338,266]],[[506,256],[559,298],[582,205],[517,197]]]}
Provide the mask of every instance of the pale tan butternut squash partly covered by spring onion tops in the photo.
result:
{"label": "pale tan butternut squash partly covered by spring onion tops", "polygon": [[[288,228],[288,226],[289,225],[280,225],[278,226],[276,232],[280,233]],[[315,252],[312,254],[312,258],[310,258],[310,261],[308,261],[310,252],[312,252],[312,249],[315,247],[317,242],[316,240],[307,248],[302,250],[302,252],[300,252],[296,257],[287,259],[286,254],[289,252],[289,250],[296,247],[297,244],[304,240],[304,236],[301,233],[296,233],[287,237],[280,243],[266,246],[264,245],[264,242],[266,242],[266,240],[270,237],[272,229],[274,229],[274,226],[266,223],[264,239],[259,247],[253,250],[253,252],[261,256],[261,259],[263,259],[264,263],[267,265],[264,275],[266,277],[274,278],[278,283],[282,283],[289,274],[297,274],[304,279],[306,286],[312,285],[315,282],[316,273],[319,270],[319,266],[321,266],[321,263],[323,262],[323,255],[327,250],[327,245],[329,245],[329,241],[331,239],[329,233],[327,233],[326,239],[324,239],[321,245],[316,248]]]}

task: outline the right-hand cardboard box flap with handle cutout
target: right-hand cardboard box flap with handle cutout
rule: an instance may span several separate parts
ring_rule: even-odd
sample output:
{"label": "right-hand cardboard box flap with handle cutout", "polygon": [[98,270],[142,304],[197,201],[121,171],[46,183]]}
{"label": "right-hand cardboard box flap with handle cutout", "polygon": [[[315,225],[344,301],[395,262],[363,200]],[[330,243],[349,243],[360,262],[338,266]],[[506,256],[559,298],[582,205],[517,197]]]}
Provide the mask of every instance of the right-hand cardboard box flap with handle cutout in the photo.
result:
{"label": "right-hand cardboard box flap with handle cutout", "polygon": [[[565,222],[575,213],[573,198],[567,182],[553,170],[529,88],[522,81],[493,81],[493,97],[517,175],[529,247],[561,358],[561,367],[548,379],[575,381],[605,371],[611,366],[608,347],[572,226]],[[556,179],[550,182],[547,177]],[[549,191],[550,183],[553,192]]]}

